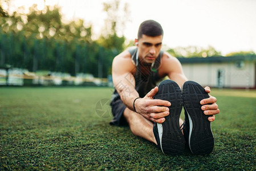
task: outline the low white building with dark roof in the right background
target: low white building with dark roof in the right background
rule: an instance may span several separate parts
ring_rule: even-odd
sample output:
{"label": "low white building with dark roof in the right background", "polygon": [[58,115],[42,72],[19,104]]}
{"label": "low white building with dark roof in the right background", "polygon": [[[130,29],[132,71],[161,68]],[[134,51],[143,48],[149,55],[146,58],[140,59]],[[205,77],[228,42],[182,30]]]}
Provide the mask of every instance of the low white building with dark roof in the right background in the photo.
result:
{"label": "low white building with dark roof in the right background", "polygon": [[256,88],[256,56],[178,58],[189,80],[202,86]]}

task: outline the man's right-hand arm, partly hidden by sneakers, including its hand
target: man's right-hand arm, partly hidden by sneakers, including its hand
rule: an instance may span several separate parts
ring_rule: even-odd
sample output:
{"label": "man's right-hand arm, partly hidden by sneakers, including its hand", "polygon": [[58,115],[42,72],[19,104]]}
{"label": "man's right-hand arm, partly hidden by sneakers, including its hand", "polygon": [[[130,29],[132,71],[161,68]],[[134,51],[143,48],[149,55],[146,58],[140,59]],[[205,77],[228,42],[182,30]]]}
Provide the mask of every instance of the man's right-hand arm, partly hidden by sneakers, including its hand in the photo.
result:
{"label": "man's right-hand arm, partly hidden by sneakers, including its hand", "polygon": [[[170,79],[174,80],[180,88],[182,87],[183,83],[186,82],[188,79],[184,75],[182,70],[181,63],[178,61],[177,58],[170,56],[166,52],[162,56],[162,65],[160,68],[160,74],[168,75]],[[210,93],[210,87],[205,87],[205,91]],[[220,113],[220,109],[218,109],[218,105],[216,104],[216,97],[209,95],[208,99],[203,99],[200,101],[202,105],[202,110],[204,111],[205,115],[213,115],[208,118],[209,121],[214,121],[216,114]]]}

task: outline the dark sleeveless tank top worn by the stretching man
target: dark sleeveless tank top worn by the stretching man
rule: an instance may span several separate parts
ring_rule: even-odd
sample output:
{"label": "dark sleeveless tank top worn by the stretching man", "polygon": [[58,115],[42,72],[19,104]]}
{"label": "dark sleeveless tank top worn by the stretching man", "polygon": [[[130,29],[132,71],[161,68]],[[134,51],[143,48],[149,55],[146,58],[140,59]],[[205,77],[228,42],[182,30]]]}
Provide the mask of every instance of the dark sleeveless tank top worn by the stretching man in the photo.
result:
{"label": "dark sleeveless tank top worn by the stretching man", "polygon": [[[139,60],[139,53],[136,46],[129,47],[127,49],[129,53],[132,55],[132,62],[135,64],[134,70],[136,70],[135,74],[133,75],[135,78],[135,89],[139,93],[140,97],[144,97],[147,95],[152,88],[156,87],[157,82],[159,82],[162,78],[159,76],[159,67],[161,64],[161,58],[164,51],[160,51],[159,56],[157,56],[154,63],[148,67],[147,72],[141,73],[141,62]],[[127,90],[129,93],[129,90]],[[130,92],[131,93],[131,92]],[[117,93],[116,89],[113,93],[112,100],[120,98],[119,94]]]}

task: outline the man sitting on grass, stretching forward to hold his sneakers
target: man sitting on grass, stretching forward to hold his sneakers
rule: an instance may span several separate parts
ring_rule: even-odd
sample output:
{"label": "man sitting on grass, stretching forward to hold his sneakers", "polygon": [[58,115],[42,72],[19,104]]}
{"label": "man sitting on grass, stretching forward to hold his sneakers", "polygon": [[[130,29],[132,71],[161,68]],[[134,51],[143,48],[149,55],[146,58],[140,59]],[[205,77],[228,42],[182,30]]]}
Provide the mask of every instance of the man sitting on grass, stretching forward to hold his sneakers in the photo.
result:
{"label": "man sitting on grass, stretching forward to hold his sneakers", "polygon": [[[210,122],[220,112],[217,99],[208,95],[209,87],[188,81],[177,58],[161,50],[162,38],[159,23],[144,21],[136,46],[113,59],[111,124],[128,124],[134,135],[157,144],[165,154],[181,154],[185,144],[194,154],[210,153]],[[182,107],[185,122],[180,119]]]}

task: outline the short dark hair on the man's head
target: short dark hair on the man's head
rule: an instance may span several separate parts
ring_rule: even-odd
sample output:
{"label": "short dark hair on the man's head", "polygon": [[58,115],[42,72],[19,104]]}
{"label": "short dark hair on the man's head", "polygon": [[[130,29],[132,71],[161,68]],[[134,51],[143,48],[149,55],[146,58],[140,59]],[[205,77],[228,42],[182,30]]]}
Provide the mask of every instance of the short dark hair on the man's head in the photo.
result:
{"label": "short dark hair on the man's head", "polygon": [[155,37],[163,35],[164,31],[162,30],[162,26],[158,22],[153,20],[147,20],[140,24],[138,31],[138,39],[140,39],[143,34]]}

